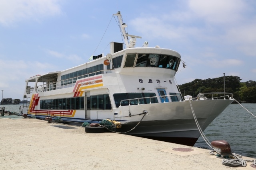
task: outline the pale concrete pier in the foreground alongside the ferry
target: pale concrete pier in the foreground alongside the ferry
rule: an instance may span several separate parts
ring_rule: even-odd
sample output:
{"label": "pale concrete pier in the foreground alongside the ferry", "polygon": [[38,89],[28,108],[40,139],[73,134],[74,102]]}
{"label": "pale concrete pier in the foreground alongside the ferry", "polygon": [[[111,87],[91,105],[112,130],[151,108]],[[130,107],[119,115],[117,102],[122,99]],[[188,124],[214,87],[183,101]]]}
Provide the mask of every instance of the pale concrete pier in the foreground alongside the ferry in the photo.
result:
{"label": "pale concrete pier in the foreground alongside the ferry", "polygon": [[251,164],[232,168],[206,149],[116,133],[85,133],[84,127],[38,119],[0,119],[1,170],[255,170]]}

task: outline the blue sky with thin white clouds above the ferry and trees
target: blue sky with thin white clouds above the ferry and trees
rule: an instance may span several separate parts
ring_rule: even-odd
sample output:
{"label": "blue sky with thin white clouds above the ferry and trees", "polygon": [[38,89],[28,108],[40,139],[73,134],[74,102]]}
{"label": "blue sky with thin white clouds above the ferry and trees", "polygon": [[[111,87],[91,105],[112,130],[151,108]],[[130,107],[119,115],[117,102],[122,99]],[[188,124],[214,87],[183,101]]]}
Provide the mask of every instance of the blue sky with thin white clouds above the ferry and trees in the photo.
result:
{"label": "blue sky with thin white clouds above the ferry and trees", "polygon": [[178,84],[223,73],[256,81],[255,0],[1,0],[3,98],[23,100],[27,78],[110,53],[110,42],[123,42],[118,11],[128,34],[142,37],[136,47],[180,53]]}

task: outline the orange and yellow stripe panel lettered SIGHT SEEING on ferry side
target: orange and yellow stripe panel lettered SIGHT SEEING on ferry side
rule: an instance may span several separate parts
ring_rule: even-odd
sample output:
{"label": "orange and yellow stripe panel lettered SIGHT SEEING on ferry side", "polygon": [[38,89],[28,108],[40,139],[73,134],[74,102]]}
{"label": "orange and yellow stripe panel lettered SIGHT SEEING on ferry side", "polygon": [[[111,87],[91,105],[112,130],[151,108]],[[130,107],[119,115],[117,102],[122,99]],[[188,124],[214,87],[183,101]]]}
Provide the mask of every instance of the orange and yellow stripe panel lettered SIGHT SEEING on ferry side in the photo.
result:
{"label": "orange and yellow stripe panel lettered SIGHT SEEING on ferry side", "polygon": [[102,82],[103,80],[101,75],[92,78],[86,78],[84,80],[78,80],[76,81],[76,85],[74,86],[73,92],[80,92],[83,89],[103,86]]}

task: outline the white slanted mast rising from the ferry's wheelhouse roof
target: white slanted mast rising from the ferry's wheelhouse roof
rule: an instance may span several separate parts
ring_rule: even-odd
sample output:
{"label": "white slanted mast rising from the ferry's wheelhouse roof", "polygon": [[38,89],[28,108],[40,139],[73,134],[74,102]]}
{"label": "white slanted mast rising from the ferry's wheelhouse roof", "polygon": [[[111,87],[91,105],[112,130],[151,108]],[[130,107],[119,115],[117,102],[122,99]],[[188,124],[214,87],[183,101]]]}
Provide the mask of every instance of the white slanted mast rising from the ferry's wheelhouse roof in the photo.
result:
{"label": "white slanted mast rising from the ferry's wheelhouse roof", "polygon": [[[120,29],[121,29],[122,35],[124,37],[125,47],[126,48],[134,48],[135,44],[136,44],[136,38],[141,38],[141,37],[140,36],[136,36],[136,35],[129,35],[128,33],[126,33],[125,27],[127,27],[127,25],[123,22],[123,19],[122,19],[120,11],[118,11],[114,15],[118,17],[118,21],[119,21],[119,24],[120,24],[120,27],[121,27]],[[128,37],[131,37],[129,41],[128,41]]]}

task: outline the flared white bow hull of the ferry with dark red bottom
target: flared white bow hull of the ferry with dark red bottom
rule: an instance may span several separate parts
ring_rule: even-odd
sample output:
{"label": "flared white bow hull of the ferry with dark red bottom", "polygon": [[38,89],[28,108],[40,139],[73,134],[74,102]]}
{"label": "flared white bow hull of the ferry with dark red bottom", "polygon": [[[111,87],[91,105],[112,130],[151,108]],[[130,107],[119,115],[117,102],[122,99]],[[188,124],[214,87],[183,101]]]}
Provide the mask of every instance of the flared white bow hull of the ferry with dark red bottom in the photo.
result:
{"label": "flared white bow hull of the ferry with dark red bottom", "polygon": [[[196,119],[202,131],[216,118],[233,100],[198,100],[191,101]],[[200,132],[192,114],[192,109],[188,101],[163,103],[159,111],[152,112],[156,107],[146,107],[140,105],[137,111],[144,108],[148,114],[142,119],[143,115],[137,116],[140,121],[129,121],[122,125],[119,132],[125,133],[139,125],[132,131],[125,133],[138,137],[146,137],[159,141],[179,143],[182,145],[193,146],[200,137]],[[135,108],[134,108],[135,109]],[[130,111],[133,107],[130,106]],[[169,111],[168,111],[169,110]],[[158,117],[158,118],[157,118]]]}

